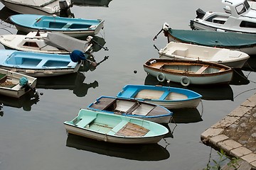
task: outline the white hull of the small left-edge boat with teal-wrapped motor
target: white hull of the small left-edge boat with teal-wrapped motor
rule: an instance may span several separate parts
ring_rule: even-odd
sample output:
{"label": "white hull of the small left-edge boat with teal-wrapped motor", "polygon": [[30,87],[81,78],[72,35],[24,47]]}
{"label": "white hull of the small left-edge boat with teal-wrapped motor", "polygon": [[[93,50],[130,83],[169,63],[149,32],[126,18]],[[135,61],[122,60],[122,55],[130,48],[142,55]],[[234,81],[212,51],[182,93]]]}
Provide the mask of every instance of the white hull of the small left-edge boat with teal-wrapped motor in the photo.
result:
{"label": "white hull of the small left-edge boat with teal-wrapped motor", "polygon": [[10,71],[4,70],[4,69],[0,69],[0,73],[6,74],[9,77],[7,79],[7,81],[10,81],[11,83],[16,84],[16,86],[14,86],[12,88],[1,86],[1,84],[0,84],[0,94],[1,95],[11,96],[14,98],[20,98],[21,96],[23,96],[23,94],[26,94],[29,90],[25,91],[24,88],[21,89],[21,85],[18,82],[19,79],[21,79],[21,77],[26,77],[28,79],[28,84],[30,84],[32,88],[36,87],[36,78],[28,77],[26,75],[19,74],[16,72],[10,72]]}

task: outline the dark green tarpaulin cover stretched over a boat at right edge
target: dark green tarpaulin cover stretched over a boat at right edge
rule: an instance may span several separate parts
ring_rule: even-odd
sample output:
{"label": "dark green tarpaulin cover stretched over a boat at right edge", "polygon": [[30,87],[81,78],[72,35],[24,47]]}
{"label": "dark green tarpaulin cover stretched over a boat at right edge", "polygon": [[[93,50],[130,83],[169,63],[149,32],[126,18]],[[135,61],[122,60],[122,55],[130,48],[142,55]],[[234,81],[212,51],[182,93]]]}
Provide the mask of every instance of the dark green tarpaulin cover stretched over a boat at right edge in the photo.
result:
{"label": "dark green tarpaulin cover stretched over a boat at right edge", "polygon": [[209,47],[251,47],[256,45],[256,34],[228,33],[208,30],[174,30],[169,34],[181,42]]}

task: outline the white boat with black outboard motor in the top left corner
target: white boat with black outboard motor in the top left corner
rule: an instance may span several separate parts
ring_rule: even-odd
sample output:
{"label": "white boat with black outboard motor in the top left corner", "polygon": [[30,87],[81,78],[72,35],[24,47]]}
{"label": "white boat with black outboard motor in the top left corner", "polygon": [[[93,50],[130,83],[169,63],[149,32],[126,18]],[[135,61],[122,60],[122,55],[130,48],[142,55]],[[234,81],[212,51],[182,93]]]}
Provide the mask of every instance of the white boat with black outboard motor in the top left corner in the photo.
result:
{"label": "white boat with black outboard motor in the top left corner", "polygon": [[4,6],[17,13],[40,15],[60,15],[61,8],[70,6],[70,2],[59,0],[0,0]]}

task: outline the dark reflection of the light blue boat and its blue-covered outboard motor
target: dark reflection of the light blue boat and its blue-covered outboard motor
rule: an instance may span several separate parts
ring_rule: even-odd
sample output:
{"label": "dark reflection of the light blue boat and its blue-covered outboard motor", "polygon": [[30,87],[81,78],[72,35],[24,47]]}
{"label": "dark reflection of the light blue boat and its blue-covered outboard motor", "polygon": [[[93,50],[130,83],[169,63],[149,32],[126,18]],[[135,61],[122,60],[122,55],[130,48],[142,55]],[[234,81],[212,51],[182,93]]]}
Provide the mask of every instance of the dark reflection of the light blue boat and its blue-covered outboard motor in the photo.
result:
{"label": "dark reflection of the light blue boat and its blue-covered outboard motor", "polygon": [[37,89],[69,89],[73,90],[73,94],[78,97],[83,97],[87,94],[88,89],[95,89],[99,86],[95,80],[92,83],[86,84],[85,75],[82,72],[67,74],[59,77],[40,77],[37,80]]}

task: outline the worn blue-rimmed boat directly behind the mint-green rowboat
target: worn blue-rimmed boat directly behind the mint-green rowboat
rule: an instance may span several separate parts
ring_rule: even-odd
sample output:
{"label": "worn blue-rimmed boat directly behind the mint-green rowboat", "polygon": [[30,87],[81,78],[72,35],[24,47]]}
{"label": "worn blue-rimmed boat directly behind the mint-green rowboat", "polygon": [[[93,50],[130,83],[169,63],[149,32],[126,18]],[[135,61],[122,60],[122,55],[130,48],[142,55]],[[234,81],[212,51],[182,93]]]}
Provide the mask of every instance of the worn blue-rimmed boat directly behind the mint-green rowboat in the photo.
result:
{"label": "worn blue-rimmed boat directly behind the mint-green rowboat", "polygon": [[155,123],[169,123],[172,112],[163,106],[135,99],[100,96],[87,106],[92,111],[101,111],[114,115],[141,118]]}

